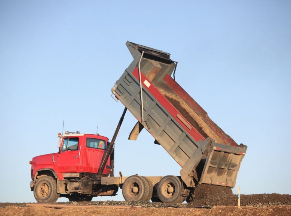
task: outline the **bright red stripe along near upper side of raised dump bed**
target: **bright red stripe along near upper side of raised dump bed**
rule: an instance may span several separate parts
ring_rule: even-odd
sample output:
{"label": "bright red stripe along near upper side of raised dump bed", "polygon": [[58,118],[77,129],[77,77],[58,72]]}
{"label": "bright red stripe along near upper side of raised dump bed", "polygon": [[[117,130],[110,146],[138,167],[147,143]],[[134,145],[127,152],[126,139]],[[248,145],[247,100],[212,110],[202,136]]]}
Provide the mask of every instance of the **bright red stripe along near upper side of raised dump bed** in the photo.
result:
{"label": "bright red stripe along near upper side of raised dump bed", "polygon": [[[137,67],[133,70],[133,76],[135,76],[136,79],[139,80],[139,73],[138,73]],[[158,91],[158,89],[152,84],[152,82],[147,80],[142,73],[141,73],[141,79],[142,79],[142,85],[144,86],[144,88],[147,88],[148,91],[153,95],[153,97],[155,97],[155,99],[163,107],[166,107],[166,110],[170,113],[170,115],[191,135],[192,138],[194,138],[194,140],[196,140],[197,142],[199,140],[205,140],[205,138],[201,134],[199,134],[195,128],[192,127],[190,130],[189,128],[187,128],[187,126],[180,119],[177,118],[177,114],[179,114],[180,116],[182,116],[182,114],[179,113],[175,107],[173,107],[173,105],[167,100],[167,98],[165,98],[165,96],[162,95],[161,92]],[[143,83],[145,81],[145,79],[150,83],[149,87],[147,87]],[[183,117],[183,119],[185,122],[188,122],[184,117]],[[190,123],[188,123],[188,124],[190,125]]]}

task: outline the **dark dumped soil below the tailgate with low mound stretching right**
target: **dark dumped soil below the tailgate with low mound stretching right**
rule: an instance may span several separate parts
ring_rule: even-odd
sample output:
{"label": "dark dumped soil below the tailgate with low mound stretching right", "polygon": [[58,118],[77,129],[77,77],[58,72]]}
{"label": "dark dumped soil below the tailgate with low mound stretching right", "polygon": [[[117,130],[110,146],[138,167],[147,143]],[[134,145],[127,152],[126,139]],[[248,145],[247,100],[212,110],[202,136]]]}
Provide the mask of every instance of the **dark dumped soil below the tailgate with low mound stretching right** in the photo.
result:
{"label": "dark dumped soil below the tailgate with low mound stretching right", "polygon": [[[201,184],[195,188],[191,207],[196,206],[229,206],[237,205],[238,196],[234,195],[230,187]],[[291,205],[291,195],[289,194],[251,194],[240,195],[241,206],[262,207],[269,205]]]}

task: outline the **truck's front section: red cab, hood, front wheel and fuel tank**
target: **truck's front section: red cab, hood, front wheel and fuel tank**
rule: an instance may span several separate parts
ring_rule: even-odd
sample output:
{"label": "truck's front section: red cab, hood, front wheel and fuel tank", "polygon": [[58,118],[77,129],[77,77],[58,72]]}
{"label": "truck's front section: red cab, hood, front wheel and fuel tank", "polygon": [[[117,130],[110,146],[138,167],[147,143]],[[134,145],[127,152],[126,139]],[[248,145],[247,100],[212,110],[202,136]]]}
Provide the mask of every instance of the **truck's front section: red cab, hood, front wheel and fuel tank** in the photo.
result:
{"label": "truck's front section: red cab, hood, front wheel and fuel tank", "polygon": [[[59,134],[59,139],[59,152],[36,156],[29,161],[32,179],[30,188],[35,198],[38,202],[55,202],[59,196],[68,197],[71,201],[92,199],[92,196],[88,196],[92,195],[92,185],[90,193],[86,192],[84,182],[87,179],[98,181],[101,176],[109,176],[110,158],[103,172],[97,174],[108,148],[108,138],[96,134],[66,133]],[[72,182],[77,182],[77,186],[74,183],[68,189]],[[50,195],[52,189],[57,192],[54,196]],[[87,195],[80,194],[83,192]]]}

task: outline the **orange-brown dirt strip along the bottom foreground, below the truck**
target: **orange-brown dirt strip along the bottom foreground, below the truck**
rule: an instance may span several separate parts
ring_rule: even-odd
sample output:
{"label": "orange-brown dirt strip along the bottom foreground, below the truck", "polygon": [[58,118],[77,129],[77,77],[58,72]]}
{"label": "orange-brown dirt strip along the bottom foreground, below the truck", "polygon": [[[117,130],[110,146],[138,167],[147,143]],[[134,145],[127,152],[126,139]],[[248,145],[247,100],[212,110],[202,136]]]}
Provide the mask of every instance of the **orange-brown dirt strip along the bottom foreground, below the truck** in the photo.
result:
{"label": "orange-brown dirt strip along the bottom foreground, below the truck", "polygon": [[115,216],[177,216],[177,215],[199,215],[199,216],[220,216],[220,215],[272,215],[289,216],[291,215],[290,205],[273,205],[264,207],[237,207],[237,206],[219,206],[210,209],[207,208],[141,208],[141,209],[116,209],[116,208],[46,208],[41,206],[19,207],[9,205],[0,208],[0,215],[11,216],[81,216],[81,215],[115,215]]}

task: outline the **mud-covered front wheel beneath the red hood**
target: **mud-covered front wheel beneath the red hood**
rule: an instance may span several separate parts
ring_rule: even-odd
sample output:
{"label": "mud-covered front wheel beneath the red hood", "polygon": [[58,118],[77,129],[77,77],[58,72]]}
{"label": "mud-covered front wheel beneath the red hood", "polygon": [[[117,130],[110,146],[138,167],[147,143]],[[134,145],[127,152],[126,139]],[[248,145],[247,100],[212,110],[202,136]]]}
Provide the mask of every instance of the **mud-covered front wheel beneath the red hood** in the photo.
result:
{"label": "mud-covered front wheel beneath the red hood", "polygon": [[36,201],[41,203],[56,202],[60,194],[57,193],[57,182],[51,176],[39,178],[33,188]]}

